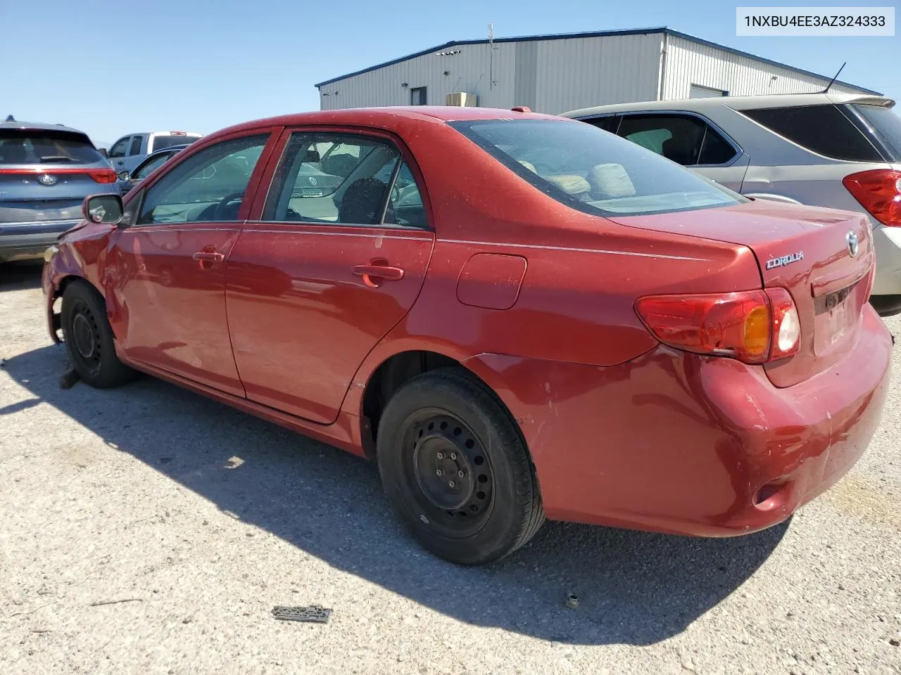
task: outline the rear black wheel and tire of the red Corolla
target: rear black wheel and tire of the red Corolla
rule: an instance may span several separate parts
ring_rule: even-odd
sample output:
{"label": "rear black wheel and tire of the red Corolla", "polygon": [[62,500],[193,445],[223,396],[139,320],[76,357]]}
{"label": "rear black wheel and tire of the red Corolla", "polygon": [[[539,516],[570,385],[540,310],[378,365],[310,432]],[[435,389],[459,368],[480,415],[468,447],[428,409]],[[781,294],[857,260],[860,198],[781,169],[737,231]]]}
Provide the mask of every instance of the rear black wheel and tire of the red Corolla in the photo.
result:
{"label": "rear black wheel and tire of the red Corolla", "polygon": [[496,395],[463,368],[405,383],[379,421],[376,454],[399,518],[451,563],[499,560],[544,523],[523,437]]}

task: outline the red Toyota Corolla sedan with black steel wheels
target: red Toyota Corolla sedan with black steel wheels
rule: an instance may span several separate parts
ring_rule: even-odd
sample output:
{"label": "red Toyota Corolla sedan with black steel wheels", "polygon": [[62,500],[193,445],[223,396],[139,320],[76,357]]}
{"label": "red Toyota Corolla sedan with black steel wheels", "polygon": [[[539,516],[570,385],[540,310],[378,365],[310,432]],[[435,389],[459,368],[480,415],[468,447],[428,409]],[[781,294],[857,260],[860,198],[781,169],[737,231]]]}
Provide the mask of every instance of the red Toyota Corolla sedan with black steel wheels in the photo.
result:
{"label": "red Toyota Corolla sedan with black steel wheels", "polygon": [[457,563],[545,515],[769,527],[851,468],[886,398],[862,216],[748,201],[579,121],[254,121],[85,215],[43,287],[86,383],[140,370],[375,458]]}

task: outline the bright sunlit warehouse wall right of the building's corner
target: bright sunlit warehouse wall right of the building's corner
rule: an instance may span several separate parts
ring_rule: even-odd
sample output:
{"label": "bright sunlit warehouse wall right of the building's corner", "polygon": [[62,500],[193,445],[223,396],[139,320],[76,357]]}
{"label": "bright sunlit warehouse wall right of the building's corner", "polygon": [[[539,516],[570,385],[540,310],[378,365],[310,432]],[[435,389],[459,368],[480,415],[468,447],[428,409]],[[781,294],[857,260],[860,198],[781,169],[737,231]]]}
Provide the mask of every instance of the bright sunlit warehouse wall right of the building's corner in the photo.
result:
{"label": "bright sunlit warehouse wall right of the building's corner", "polygon": [[[829,78],[804,75],[791,68],[773,66],[725,49],[670,35],[662,98],[688,98],[693,84],[720,89],[733,96],[807,94],[823,91],[829,84]],[[838,84],[833,85],[831,91],[837,94],[863,93],[860,89]]]}

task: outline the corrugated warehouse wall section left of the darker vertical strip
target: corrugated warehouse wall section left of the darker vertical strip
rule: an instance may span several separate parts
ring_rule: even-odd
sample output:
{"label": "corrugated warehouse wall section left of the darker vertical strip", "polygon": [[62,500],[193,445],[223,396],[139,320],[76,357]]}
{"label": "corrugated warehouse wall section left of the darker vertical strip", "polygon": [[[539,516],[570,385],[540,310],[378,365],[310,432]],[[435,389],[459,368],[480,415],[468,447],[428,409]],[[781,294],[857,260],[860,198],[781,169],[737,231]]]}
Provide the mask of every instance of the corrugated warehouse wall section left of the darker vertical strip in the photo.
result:
{"label": "corrugated warehouse wall section left of the darker vertical strip", "polygon": [[[319,90],[322,110],[382,105],[409,105],[410,90],[427,87],[428,103],[443,105],[444,96],[455,92],[478,94],[482,107],[512,107],[516,43],[501,42],[494,48],[494,80],[489,69],[491,50],[487,44],[460,45],[446,49],[458,54],[435,53],[410,58],[390,66],[345,77]],[[448,75],[444,75],[447,71]],[[407,86],[402,86],[406,83]],[[327,94],[327,95],[326,95]]]}

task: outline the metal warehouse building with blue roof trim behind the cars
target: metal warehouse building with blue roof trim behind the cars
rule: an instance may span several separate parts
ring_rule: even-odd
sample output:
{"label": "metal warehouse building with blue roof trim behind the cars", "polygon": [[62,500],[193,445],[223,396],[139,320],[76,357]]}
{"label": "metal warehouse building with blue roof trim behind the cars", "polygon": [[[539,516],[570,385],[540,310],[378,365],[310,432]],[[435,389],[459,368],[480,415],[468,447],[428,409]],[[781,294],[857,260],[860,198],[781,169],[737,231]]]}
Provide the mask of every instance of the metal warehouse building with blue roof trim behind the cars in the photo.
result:
{"label": "metal warehouse building with blue roof trim behind the cars", "polygon": [[[321,82],[323,110],[479,105],[559,113],[696,96],[823,91],[817,75],[668,28],[462,40]],[[831,91],[878,94],[835,82]]]}

